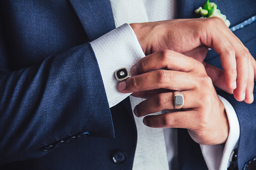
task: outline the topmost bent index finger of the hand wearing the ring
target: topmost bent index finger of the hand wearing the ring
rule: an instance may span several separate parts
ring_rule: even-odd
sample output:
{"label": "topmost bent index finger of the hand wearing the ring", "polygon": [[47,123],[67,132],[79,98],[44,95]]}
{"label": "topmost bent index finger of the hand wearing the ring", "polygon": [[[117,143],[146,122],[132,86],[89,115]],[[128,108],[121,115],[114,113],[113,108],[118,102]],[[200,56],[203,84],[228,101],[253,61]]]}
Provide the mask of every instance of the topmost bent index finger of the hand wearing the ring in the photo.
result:
{"label": "topmost bent index finger of the hand wearing the ring", "polygon": [[132,75],[138,75],[162,68],[190,72],[196,69],[198,65],[200,65],[200,62],[191,57],[175,51],[163,50],[140,59],[132,67],[131,73]]}

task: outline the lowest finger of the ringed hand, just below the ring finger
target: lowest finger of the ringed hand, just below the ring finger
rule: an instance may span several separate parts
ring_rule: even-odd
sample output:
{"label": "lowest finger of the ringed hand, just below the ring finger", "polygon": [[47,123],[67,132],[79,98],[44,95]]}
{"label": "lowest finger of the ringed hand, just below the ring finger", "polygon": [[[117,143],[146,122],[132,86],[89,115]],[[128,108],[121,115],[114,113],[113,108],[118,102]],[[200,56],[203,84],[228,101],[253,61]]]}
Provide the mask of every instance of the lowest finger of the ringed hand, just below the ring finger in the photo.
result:
{"label": "lowest finger of the ringed hand, just below the ring finger", "polygon": [[143,123],[157,128],[187,128],[197,127],[197,113],[194,110],[149,115],[143,118]]}

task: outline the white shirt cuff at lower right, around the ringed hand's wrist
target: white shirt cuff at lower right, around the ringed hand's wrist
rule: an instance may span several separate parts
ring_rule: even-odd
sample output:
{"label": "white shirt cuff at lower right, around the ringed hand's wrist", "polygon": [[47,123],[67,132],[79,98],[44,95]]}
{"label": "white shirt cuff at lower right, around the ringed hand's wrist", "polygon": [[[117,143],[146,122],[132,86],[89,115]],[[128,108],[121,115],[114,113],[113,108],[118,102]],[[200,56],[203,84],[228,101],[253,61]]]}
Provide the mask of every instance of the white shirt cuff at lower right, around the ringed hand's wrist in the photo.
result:
{"label": "white shirt cuff at lower right, around the ringed hand's wrist", "polygon": [[200,145],[205,162],[210,170],[228,168],[229,157],[232,151],[237,148],[240,135],[240,126],[233,106],[225,98],[221,96],[219,98],[225,106],[229,122],[229,133],[225,145]]}

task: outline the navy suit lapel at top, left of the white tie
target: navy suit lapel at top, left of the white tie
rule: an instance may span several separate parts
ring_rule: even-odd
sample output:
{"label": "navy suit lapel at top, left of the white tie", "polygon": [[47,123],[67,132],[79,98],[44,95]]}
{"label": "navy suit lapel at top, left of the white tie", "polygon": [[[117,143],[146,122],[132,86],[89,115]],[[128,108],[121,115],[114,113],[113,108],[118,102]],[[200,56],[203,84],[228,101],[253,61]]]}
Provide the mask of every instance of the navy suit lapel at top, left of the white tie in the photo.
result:
{"label": "navy suit lapel at top, left of the white tie", "polygon": [[89,41],[115,29],[109,0],[69,0]]}

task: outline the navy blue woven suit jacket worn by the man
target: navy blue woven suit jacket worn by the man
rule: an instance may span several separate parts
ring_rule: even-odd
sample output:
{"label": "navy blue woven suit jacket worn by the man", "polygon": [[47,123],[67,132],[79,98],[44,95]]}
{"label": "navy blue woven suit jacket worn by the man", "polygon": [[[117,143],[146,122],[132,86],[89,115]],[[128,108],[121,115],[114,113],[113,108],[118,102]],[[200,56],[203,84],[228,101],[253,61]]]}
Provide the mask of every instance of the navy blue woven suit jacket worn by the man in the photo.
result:
{"label": "navy blue woven suit jacket worn by the man", "polygon": [[[231,27],[256,15],[249,1],[214,1]],[[198,18],[205,1],[177,1]],[[131,169],[137,132],[129,98],[109,108],[91,41],[115,29],[108,0],[0,2],[0,169]],[[256,22],[234,34],[256,56]],[[221,67],[212,50],[206,62]],[[255,89],[254,89],[255,92]],[[237,102],[238,166],[256,156],[256,105]],[[255,93],[254,93],[255,96]],[[181,129],[179,169],[207,169]],[[112,154],[126,153],[116,164]]]}

